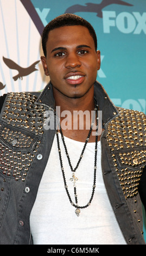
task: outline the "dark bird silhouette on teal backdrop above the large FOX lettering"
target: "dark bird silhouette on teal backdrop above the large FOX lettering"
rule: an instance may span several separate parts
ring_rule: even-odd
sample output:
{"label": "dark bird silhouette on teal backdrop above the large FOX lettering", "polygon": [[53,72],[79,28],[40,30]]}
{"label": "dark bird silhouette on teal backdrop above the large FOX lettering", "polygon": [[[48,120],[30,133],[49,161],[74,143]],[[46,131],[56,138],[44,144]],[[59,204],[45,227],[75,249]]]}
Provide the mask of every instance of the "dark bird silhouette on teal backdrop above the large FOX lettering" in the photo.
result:
{"label": "dark bird silhouette on teal backdrop above the large FOX lettering", "polygon": [[133,6],[132,4],[126,3],[121,0],[103,0],[100,4],[94,4],[94,3],[86,3],[86,6],[80,5],[80,4],[75,4],[69,7],[65,13],[78,13],[79,11],[86,11],[88,13],[97,13],[97,16],[102,18],[103,13],[102,9],[104,9],[107,5],[111,4],[120,4],[120,5],[128,5],[128,6]]}

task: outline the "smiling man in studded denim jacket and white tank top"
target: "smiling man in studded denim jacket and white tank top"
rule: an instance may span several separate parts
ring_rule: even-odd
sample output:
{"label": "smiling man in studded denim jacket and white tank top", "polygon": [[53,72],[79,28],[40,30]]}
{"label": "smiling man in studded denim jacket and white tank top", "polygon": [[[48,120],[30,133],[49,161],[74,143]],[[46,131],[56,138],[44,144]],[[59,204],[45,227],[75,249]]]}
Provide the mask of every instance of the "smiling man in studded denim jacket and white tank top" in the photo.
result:
{"label": "smiling man in studded denim jacket and white tank top", "polygon": [[144,244],[145,115],[117,109],[96,82],[87,21],[56,17],[42,46],[50,82],[8,94],[1,111],[1,244]]}

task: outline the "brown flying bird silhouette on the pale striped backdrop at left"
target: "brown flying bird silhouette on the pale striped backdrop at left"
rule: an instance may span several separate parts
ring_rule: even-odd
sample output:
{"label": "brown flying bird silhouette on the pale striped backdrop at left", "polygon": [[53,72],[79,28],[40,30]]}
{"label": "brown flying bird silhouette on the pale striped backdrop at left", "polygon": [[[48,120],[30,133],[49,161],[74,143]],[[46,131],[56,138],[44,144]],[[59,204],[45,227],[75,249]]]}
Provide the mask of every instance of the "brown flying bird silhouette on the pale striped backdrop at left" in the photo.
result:
{"label": "brown flying bird silhouette on the pale striped backdrop at left", "polygon": [[16,64],[11,59],[7,59],[7,58],[3,57],[3,61],[8,66],[9,69],[16,69],[18,71],[18,74],[16,76],[12,77],[14,79],[14,81],[16,81],[18,78],[21,78],[21,80],[22,80],[23,76],[28,76],[29,74],[31,74],[35,70],[38,70],[38,69],[35,68],[35,65],[40,62],[40,60],[37,60],[37,62],[34,62],[28,68],[22,68],[21,66]]}

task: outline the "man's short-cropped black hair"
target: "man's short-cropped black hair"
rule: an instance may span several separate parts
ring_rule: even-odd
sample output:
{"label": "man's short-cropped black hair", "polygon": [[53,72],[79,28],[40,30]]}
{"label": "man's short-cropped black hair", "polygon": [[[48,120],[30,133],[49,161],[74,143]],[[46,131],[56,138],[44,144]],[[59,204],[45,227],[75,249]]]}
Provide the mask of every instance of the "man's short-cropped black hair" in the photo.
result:
{"label": "man's short-cropped black hair", "polygon": [[78,15],[62,14],[62,15],[56,17],[55,19],[53,19],[52,21],[50,21],[48,23],[48,25],[43,29],[42,48],[43,48],[43,53],[44,53],[45,57],[47,55],[46,43],[48,40],[49,32],[55,28],[64,27],[64,26],[76,26],[76,25],[84,26],[88,29],[89,33],[91,34],[91,36],[94,40],[94,45],[95,45],[95,48],[97,51],[97,36],[96,36],[96,32],[94,31],[94,28],[92,27],[92,25],[88,21],[86,21],[85,19],[83,19],[82,17],[80,17]]}

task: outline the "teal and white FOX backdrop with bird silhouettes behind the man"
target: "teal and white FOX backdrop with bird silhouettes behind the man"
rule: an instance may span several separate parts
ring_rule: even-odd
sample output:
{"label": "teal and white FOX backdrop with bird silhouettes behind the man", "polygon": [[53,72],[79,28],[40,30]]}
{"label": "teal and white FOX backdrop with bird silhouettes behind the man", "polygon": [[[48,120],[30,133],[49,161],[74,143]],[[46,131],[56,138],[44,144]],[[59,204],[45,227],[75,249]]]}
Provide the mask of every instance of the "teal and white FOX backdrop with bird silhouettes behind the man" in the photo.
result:
{"label": "teal and white FOX backdrop with bird silhouettes behind the man", "polygon": [[[0,95],[45,87],[41,33],[63,13],[94,27],[101,51],[97,80],[113,103],[146,113],[145,0],[0,0]],[[146,241],[145,224],[144,231]]]}

